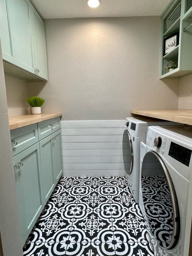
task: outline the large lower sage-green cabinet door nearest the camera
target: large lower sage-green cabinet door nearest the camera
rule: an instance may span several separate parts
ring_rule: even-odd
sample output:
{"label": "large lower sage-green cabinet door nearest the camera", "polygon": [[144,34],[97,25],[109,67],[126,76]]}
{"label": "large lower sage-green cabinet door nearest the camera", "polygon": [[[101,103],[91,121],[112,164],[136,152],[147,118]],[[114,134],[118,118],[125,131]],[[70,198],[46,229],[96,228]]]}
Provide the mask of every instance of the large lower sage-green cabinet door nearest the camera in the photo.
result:
{"label": "large lower sage-green cabinet door nearest the camera", "polygon": [[22,244],[38,219],[44,205],[39,144],[13,157]]}

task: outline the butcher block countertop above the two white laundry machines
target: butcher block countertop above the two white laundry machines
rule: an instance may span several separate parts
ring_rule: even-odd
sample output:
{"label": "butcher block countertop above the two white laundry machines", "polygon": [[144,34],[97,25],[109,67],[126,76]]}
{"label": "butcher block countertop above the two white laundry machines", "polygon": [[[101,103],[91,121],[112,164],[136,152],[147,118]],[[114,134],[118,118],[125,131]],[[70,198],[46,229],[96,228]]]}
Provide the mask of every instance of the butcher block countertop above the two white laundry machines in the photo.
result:
{"label": "butcher block countertop above the two white laundry machines", "polygon": [[192,125],[192,109],[131,110],[131,114]]}

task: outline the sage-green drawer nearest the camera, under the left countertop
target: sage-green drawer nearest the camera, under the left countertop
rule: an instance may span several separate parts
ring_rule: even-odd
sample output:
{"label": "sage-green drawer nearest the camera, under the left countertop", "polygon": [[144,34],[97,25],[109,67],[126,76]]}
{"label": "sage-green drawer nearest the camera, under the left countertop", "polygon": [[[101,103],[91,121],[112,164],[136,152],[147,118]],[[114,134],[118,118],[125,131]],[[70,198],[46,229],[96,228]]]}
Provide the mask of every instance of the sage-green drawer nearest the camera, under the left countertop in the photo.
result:
{"label": "sage-green drawer nearest the camera, under the left countertop", "polygon": [[37,124],[31,124],[15,130],[11,130],[10,134],[13,156],[38,142]]}

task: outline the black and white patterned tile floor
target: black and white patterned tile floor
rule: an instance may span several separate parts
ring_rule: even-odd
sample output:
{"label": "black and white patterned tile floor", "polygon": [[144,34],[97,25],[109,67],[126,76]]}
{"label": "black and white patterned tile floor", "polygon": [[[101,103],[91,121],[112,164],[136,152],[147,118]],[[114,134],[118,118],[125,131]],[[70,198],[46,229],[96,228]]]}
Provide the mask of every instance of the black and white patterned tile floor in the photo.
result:
{"label": "black and white patterned tile floor", "polygon": [[153,256],[146,224],[124,177],[61,178],[24,256]]}

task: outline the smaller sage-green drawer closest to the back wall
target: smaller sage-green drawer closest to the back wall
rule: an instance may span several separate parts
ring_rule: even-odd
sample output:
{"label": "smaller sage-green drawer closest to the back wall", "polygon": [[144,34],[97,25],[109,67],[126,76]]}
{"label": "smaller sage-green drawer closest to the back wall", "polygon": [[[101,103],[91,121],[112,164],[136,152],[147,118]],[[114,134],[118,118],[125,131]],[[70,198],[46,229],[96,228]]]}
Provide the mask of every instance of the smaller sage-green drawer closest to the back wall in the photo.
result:
{"label": "smaller sage-green drawer closest to the back wall", "polygon": [[38,135],[39,140],[44,139],[53,132],[56,132],[60,129],[60,117],[52,118],[43,122],[38,123]]}

